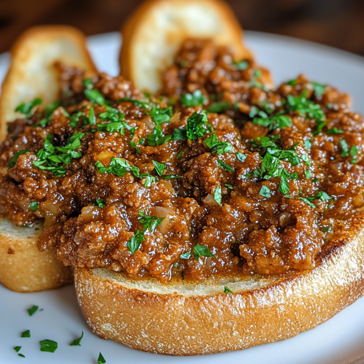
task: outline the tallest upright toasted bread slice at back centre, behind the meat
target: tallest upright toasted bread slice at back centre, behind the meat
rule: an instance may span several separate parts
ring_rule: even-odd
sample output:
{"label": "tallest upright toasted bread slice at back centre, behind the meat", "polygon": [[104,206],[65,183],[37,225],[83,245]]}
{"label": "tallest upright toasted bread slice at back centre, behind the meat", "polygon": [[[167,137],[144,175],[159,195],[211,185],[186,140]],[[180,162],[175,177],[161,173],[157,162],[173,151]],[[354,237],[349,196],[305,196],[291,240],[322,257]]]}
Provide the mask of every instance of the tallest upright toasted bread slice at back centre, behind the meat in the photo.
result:
{"label": "tallest upright toasted bread slice at back centre, behind the meat", "polygon": [[187,38],[212,38],[229,46],[237,60],[250,59],[243,30],[220,0],[149,0],[121,30],[120,72],[142,90],[158,91],[161,72]]}

